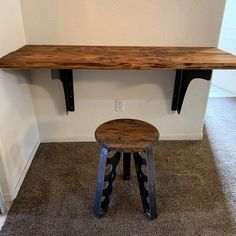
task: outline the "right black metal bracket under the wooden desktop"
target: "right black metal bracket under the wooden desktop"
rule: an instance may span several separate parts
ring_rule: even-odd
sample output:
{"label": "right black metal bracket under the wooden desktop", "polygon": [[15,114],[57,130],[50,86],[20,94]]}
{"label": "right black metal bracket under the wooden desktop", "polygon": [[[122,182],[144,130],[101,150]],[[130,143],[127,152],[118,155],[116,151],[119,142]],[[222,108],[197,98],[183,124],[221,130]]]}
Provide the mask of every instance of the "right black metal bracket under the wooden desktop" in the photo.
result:
{"label": "right black metal bracket under the wooden desktop", "polygon": [[193,79],[210,80],[211,74],[212,70],[176,70],[171,110],[180,114],[190,82]]}

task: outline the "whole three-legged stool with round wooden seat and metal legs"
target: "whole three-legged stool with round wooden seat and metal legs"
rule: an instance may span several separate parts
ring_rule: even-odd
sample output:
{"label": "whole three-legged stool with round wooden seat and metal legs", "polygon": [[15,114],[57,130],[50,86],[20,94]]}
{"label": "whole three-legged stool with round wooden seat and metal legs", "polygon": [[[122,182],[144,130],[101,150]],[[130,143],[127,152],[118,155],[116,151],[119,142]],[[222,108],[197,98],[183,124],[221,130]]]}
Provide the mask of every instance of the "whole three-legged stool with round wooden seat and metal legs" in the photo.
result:
{"label": "whole three-legged stool with round wooden seat and metal legs", "polygon": [[95,137],[101,145],[101,151],[94,214],[100,218],[108,209],[121,154],[124,158],[123,179],[130,179],[130,159],[133,153],[143,210],[146,217],[155,219],[157,212],[152,146],[159,138],[158,130],[144,121],[117,119],[100,125]]}

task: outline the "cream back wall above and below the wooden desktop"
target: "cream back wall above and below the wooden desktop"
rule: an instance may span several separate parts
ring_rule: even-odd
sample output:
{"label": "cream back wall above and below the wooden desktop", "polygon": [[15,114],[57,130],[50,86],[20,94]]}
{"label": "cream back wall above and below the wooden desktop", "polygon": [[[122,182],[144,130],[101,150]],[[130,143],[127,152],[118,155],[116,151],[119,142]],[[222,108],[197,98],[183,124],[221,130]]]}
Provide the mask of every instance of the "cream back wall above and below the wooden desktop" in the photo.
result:
{"label": "cream back wall above and below the wooden desktop", "polygon": [[[21,0],[30,44],[216,46],[224,0]],[[194,81],[180,116],[171,112],[174,71],[74,71],[76,112],[67,117],[59,81],[32,70],[42,141],[93,140],[103,121],[135,117],[162,139],[200,139],[209,82]],[[114,112],[115,98],[125,111]]]}

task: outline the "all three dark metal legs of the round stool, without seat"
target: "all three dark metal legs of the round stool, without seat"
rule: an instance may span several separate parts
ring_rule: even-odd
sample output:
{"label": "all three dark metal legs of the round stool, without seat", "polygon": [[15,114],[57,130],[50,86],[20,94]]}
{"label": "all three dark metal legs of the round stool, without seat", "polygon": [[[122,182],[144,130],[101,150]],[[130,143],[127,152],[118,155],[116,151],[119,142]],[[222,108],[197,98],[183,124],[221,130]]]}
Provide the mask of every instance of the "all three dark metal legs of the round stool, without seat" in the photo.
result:
{"label": "all three dark metal legs of the round stool, without seat", "polygon": [[[109,150],[105,147],[101,149],[99,170],[97,177],[96,196],[94,202],[94,214],[101,217],[108,209],[114,181],[118,170],[121,153],[116,152],[112,157],[108,157]],[[133,154],[135,169],[143,204],[144,215],[152,220],[157,217],[156,191],[155,191],[155,165],[152,148],[147,149],[143,158],[139,152]],[[131,153],[123,154],[124,173],[123,179],[130,179]],[[110,166],[110,168],[109,168]],[[107,171],[108,170],[108,171]],[[144,171],[146,170],[146,171]]]}

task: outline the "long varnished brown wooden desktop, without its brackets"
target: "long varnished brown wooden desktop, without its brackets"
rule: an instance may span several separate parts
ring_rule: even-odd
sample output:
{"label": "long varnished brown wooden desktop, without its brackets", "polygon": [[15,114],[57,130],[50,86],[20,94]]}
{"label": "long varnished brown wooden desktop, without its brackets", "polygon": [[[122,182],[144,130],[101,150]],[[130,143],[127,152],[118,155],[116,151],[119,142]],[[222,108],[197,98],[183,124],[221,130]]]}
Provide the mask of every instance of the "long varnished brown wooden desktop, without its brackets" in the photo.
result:
{"label": "long varnished brown wooden desktop, without its brackets", "polygon": [[236,69],[236,57],[212,47],[26,45],[0,68]]}

